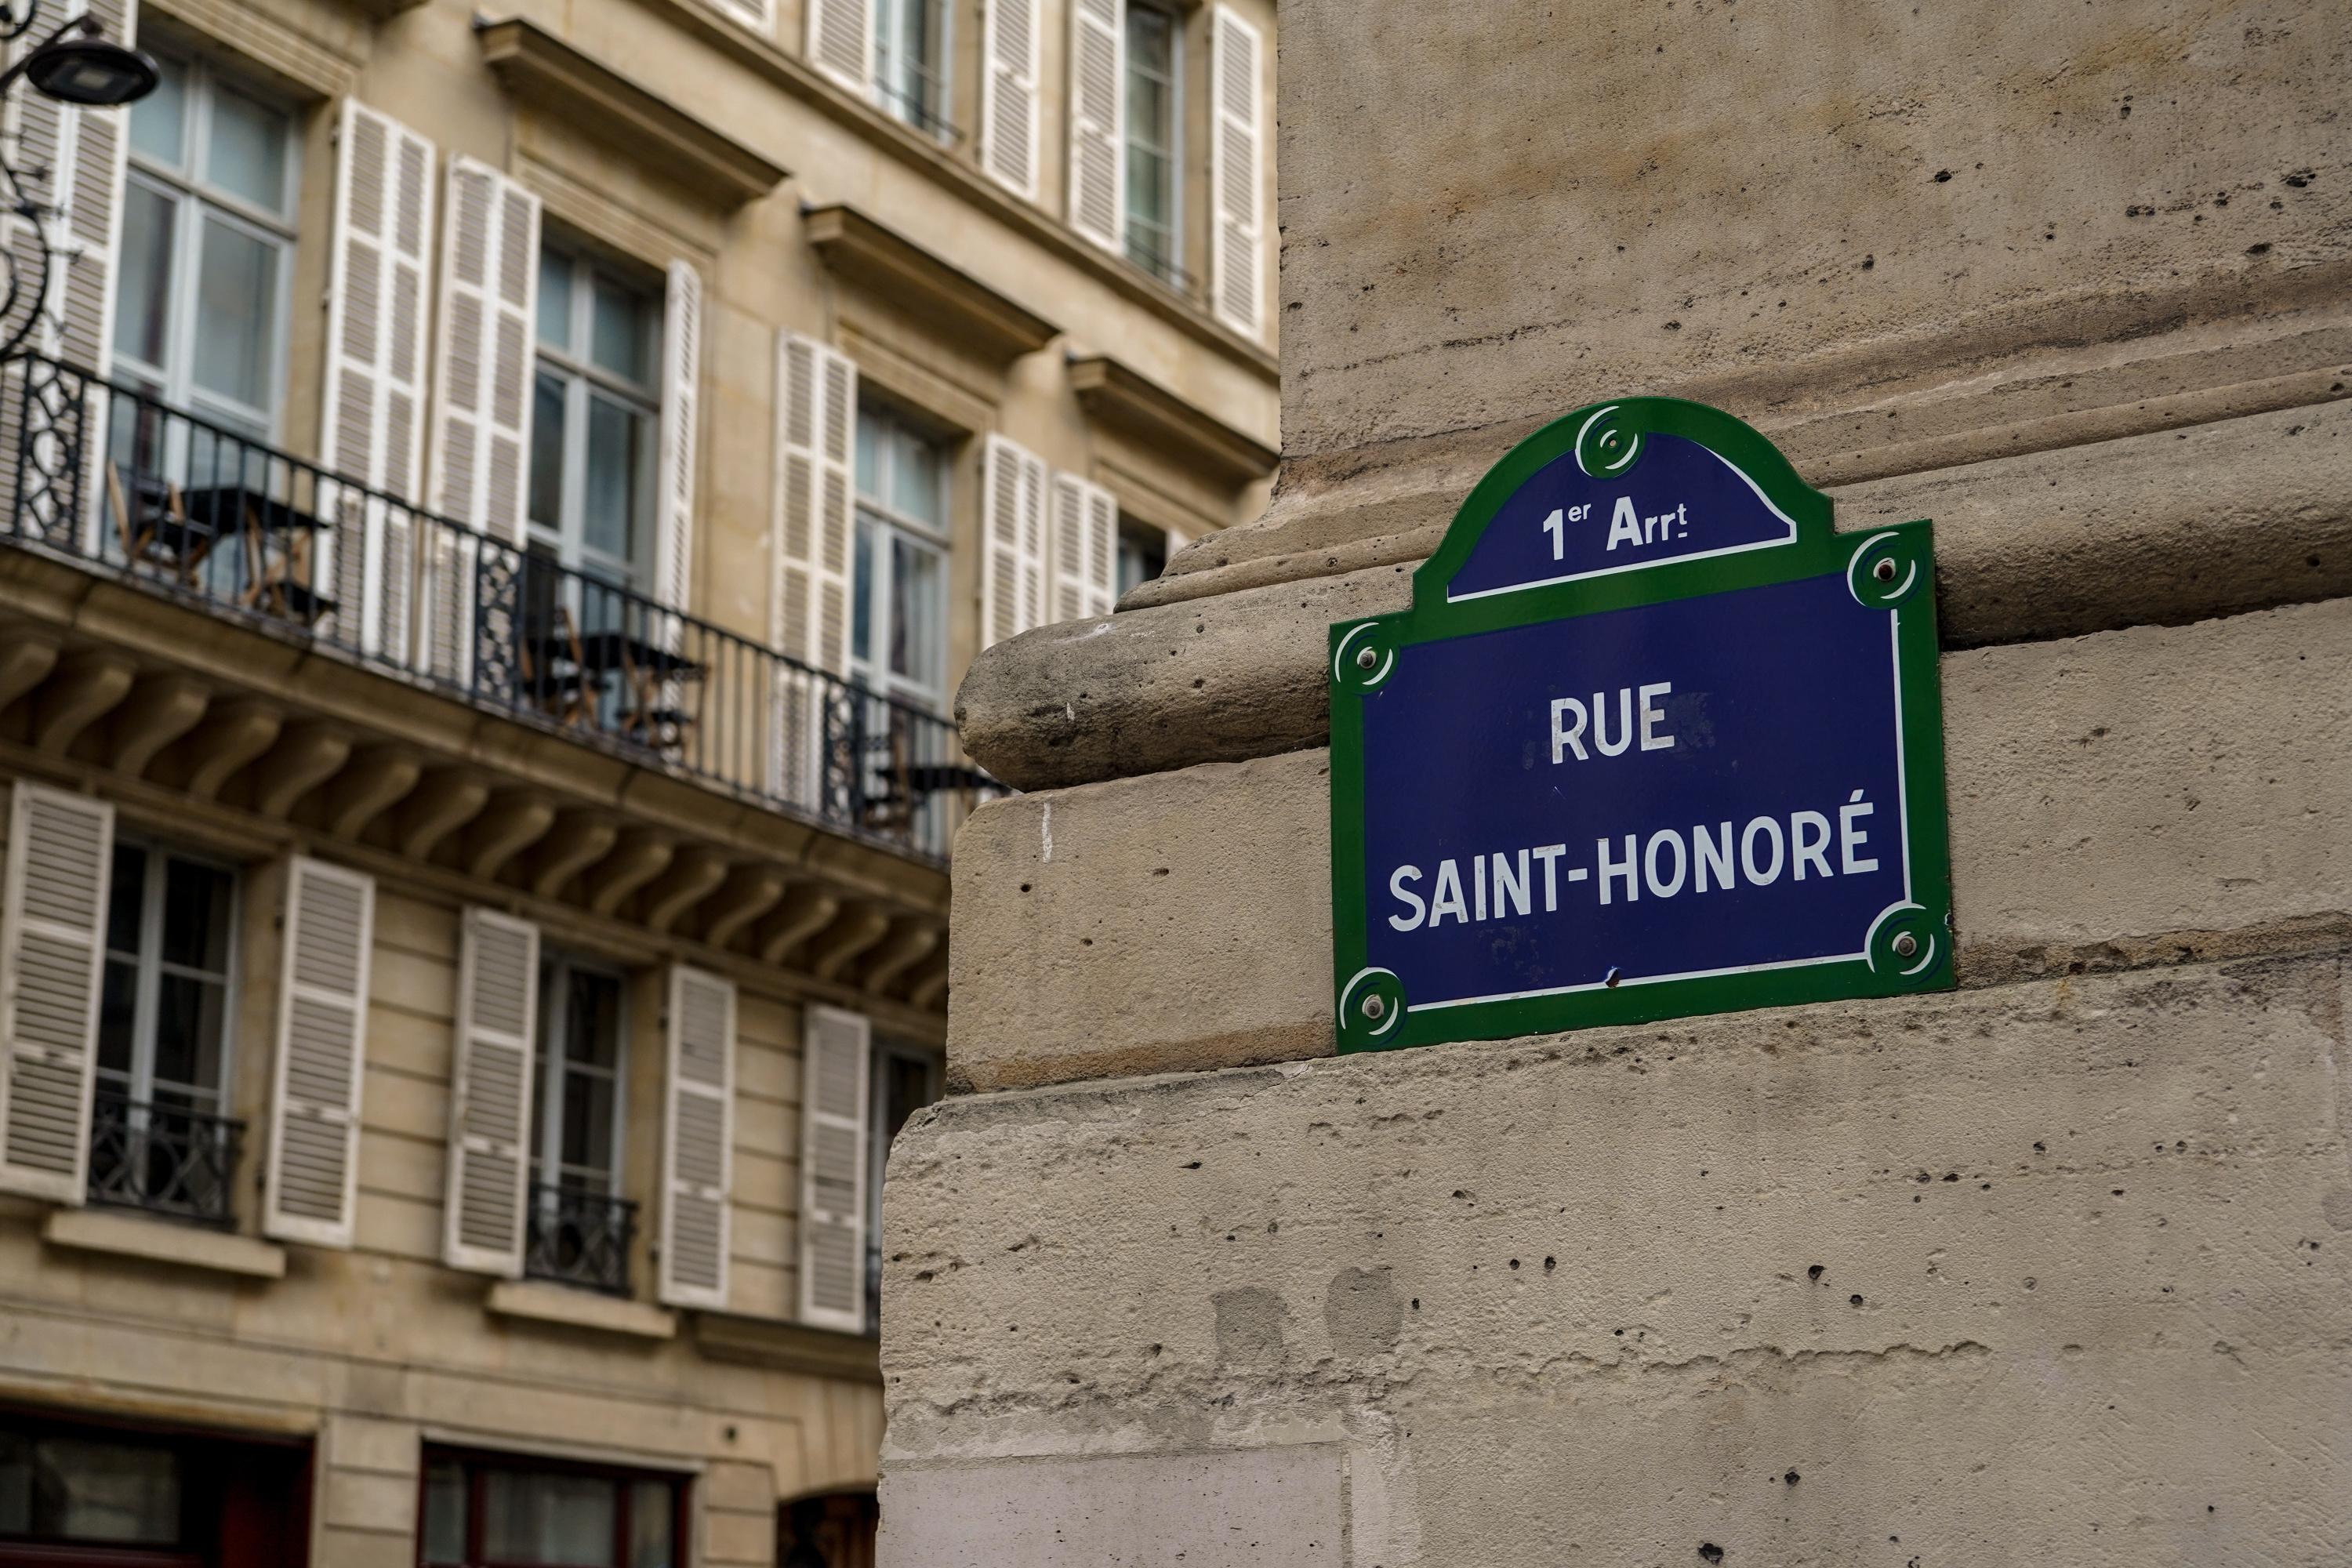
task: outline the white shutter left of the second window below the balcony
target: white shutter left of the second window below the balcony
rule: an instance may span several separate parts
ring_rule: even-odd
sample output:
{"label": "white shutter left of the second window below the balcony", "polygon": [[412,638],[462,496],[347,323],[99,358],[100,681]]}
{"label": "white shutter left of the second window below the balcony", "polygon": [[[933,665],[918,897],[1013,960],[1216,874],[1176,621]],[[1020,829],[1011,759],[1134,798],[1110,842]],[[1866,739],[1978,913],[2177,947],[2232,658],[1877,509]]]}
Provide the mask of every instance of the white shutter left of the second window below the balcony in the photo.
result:
{"label": "white shutter left of the second window below the balcony", "polygon": [[466,910],[442,1201],[442,1260],[454,1269],[522,1276],[536,1037],[539,926]]}

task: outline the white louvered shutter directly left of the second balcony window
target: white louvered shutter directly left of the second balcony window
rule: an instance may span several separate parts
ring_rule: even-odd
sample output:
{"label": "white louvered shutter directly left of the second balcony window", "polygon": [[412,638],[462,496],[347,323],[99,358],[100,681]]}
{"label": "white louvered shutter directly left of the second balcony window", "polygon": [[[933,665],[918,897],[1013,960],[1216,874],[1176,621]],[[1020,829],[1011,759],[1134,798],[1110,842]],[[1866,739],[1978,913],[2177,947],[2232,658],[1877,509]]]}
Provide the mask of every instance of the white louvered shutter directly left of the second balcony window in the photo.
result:
{"label": "white louvered shutter directly left of the second balcony window", "polygon": [[[532,454],[532,322],[539,197],[470,158],[449,160],[433,390],[433,505],[520,548]],[[466,682],[475,644],[475,550],[437,531],[426,550],[430,670]]]}

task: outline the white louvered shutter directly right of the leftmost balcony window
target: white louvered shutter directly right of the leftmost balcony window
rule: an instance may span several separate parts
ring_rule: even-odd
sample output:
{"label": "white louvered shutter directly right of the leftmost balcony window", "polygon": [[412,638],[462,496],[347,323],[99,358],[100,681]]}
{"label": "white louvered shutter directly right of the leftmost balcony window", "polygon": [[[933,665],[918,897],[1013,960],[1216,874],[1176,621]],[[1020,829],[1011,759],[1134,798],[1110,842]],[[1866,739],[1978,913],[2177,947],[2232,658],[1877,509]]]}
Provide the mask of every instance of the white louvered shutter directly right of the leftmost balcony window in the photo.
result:
{"label": "white louvered shutter directly right of the leftmost balcony window", "polygon": [[[426,287],[433,256],[433,143],[343,99],[334,148],[327,383],[320,465],[402,501],[423,494]],[[409,515],[322,487],[336,642],[409,651]]]}

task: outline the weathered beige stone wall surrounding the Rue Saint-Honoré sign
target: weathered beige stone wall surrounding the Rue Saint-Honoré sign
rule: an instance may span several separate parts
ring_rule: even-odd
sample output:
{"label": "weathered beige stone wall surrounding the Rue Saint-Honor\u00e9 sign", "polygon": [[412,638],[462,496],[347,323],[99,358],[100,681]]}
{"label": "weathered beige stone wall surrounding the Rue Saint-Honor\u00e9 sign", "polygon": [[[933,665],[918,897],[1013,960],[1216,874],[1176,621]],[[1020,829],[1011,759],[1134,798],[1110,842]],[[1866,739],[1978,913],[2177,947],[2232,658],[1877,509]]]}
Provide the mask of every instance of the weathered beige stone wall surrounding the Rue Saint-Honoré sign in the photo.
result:
{"label": "weathered beige stone wall surrounding the Rue Saint-Honor\u00e9 sign", "polygon": [[[882,1561],[2340,1561],[2345,12],[1282,28],[1270,512],[964,682]],[[1959,990],[1334,1056],[1329,625],[1642,393],[1936,520]]]}

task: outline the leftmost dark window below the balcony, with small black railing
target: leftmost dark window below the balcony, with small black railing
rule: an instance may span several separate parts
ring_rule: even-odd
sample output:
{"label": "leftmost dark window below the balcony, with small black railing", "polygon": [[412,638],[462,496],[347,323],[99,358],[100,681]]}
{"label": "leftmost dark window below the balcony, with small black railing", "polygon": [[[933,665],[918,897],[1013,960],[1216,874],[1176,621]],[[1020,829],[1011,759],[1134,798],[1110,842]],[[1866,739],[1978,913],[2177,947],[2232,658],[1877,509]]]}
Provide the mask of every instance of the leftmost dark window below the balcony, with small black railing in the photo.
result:
{"label": "leftmost dark window below the balcony, with small black railing", "polygon": [[115,842],[89,1117],[89,1197],[226,1222],[238,1124],[228,987],[238,877],[153,844]]}

